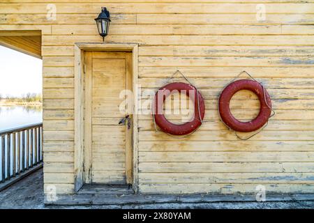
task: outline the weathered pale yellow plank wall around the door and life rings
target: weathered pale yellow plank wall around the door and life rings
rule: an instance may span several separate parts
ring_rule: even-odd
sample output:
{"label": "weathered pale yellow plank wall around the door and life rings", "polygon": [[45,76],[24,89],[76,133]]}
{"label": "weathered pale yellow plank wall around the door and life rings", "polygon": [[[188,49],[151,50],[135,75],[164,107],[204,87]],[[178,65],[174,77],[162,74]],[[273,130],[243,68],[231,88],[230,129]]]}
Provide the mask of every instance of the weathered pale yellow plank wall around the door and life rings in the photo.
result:
{"label": "weathered pale yellow plank wall around the door and life rings", "polygon": [[[267,192],[314,191],[313,0],[102,2],[0,3],[1,30],[43,33],[45,186],[73,192],[73,43],[101,41],[94,18],[106,6],[112,13],[106,40],[140,44],[143,89],[155,90],[179,69],[206,99],[206,123],[185,139],[156,133],[150,115],[139,117],[140,192],[252,193],[260,184]],[[57,20],[47,20],[47,3],[57,6]],[[266,9],[262,21],[259,3]],[[276,109],[248,141],[228,131],[216,109],[223,86],[241,70],[267,86]],[[253,117],[254,99],[237,94],[233,113]]]}

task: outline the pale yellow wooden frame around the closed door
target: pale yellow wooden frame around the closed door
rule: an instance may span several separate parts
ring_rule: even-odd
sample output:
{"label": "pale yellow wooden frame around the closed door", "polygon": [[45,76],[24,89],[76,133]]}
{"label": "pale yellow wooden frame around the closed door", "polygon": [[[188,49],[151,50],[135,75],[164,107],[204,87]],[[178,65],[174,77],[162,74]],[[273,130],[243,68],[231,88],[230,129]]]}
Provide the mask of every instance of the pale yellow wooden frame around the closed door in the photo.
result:
{"label": "pale yellow wooden frame around the closed door", "polygon": [[136,43],[75,43],[74,64],[74,174],[75,192],[85,183],[84,167],[84,52],[85,51],[108,51],[108,52],[132,52],[133,63],[133,190],[138,191],[138,114],[137,114],[137,77],[138,77],[138,45]]}

